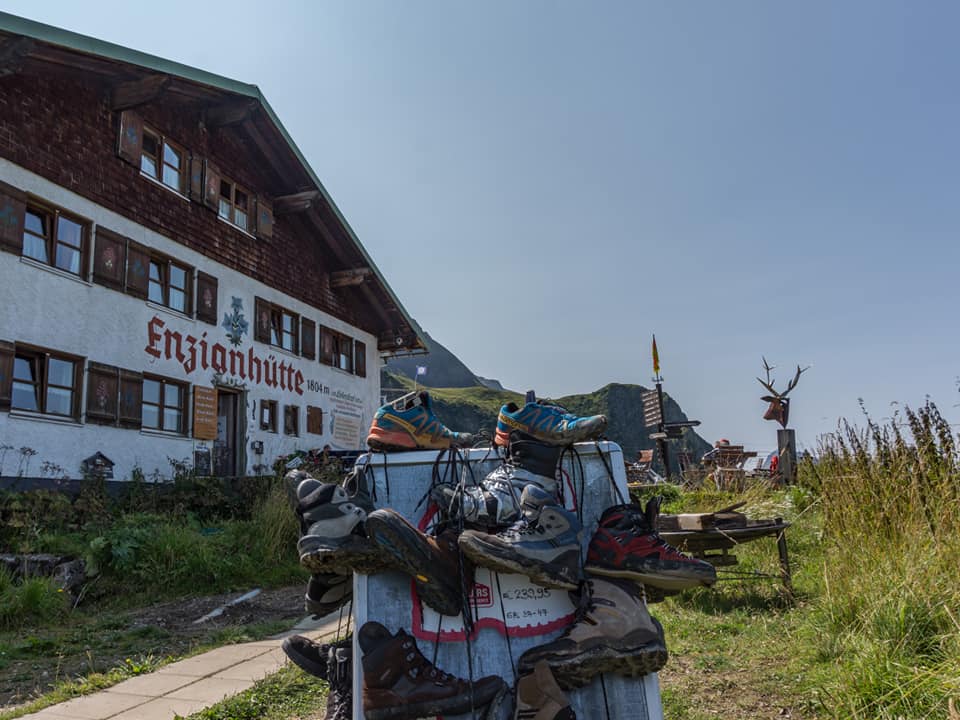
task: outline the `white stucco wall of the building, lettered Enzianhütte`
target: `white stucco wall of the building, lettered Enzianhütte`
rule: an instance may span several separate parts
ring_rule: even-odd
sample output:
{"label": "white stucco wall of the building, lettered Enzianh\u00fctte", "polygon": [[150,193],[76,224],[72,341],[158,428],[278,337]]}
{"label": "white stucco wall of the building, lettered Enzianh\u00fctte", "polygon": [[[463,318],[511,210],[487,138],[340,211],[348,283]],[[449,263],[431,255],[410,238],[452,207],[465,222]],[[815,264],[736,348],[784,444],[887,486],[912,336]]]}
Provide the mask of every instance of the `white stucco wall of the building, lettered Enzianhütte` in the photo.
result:
{"label": "white stucco wall of the building, lettered Enzianh\u00fctte", "polygon": [[[229,349],[247,354],[253,347],[263,360],[283,361],[294,371],[303,374],[303,394],[295,390],[281,390],[266,384],[252,384],[248,379],[231,376],[228,371],[221,381],[244,389],[246,397],[246,468],[252,474],[259,463],[271,464],[279,455],[297,449],[320,448],[330,444],[334,449],[349,450],[364,446],[367,428],[379,405],[380,360],[376,338],[358,328],[330,317],[282,292],[269,288],[241,273],[219,265],[209,258],[138,225],[121,215],[82,198],[44,178],[9,161],[0,159],[0,180],[35,194],[51,203],[89,219],[94,228],[98,224],[125,235],[160,253],[206,272],[218,280],[217,308],[221,322],[232,312],[233,298],[242,304],[242,312],[249,323],[249,331],[239,346],[231,345],[227,330],[191,319],[163,306],[140,300],[101,285],[88,283],[75,276],[24,260],[10,253],[0,252],[0,340],[25,343],[82,356],[88,361],[116,365],[124,369],[162,375],[193,385],[212,387],[215,371],[197,367],[187,373],[176,359],[157,359],[146,352],[148,325],[159,318],[164,329],[193,335],[211,346],[220,343]],[[149,182],[144,179],[143,182]],[[188,200],[182,202],[186,208]],[[224,226],[224,238],[235,236]],[[92,237],[93,235],[91,235]],[[282,250],[281,250],[282,251]],[[89,255],[92,256],[92,253]],[[88,267],[90,258],[88,257]],[[84,272],[87,277],[88,273]],[[291,278],[291,283],[297,282]],[[312,319],[338,332],[360,340],[367,347],[367,377],[308,360],[276,347],[254,342],[254,297],[261,297],[302,317]],[[318,328],[319,334],[319,328]],[[163,343],[160,343],[161,349]],[[86,374],[82,392],[81,410],[86,408]],[[279,405],[277,433],[260,430],[261,399],[276,400]],[[283,406],[300,408],[299,437],[283,434]],[[322,435],[307,434],[306,408],[321,407],[324,411]],[[192,417],[192,393],[190,398]],[[341,419],[339,432],[333,432],[337,418]],[[195,441],[190,437],[173,436],[154,431],[138,431],[81,422],[62,422],[18,411],[0,412],[0,446],[12,446],[6,451],[0,465],[0,476],[15,476],[24,471],[21,447],[36,450],[30,458],[26,474],[39,476],[41,464],[46,461],[61,466],[70,477],[79,477],[81,461],[102,452],[114,463],[115,479],[127,479],[134,467],[148,476],[154,471],[169,477],[168,458],[190,459],[196,447],[212,447],[212,442]],[[192,422],[191,422],[192,427]],[[344,434],[344,428],[350,432]],[[359,428],[359,429],[357,429]],[[251,452],[251,442],[264,444],[262,456]]]}

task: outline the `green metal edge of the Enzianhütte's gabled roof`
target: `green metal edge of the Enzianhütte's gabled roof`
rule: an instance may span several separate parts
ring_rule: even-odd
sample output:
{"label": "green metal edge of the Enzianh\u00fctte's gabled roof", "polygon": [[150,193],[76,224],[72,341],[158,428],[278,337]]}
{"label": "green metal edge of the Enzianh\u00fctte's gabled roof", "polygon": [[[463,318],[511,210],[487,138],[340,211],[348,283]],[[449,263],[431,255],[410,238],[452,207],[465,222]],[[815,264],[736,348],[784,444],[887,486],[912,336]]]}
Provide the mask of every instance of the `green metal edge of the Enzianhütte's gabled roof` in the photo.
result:
{"label": "green metal edge of the Enzianh\u00fctte's gabled roof", "polygon": [[367,249],[363,246],[363,243],[360,242],[360,238],[357,237],[357,234],[350,226],[350,223],[347,222],[347,219],[344,217],[343,213],[340,212],[340,208],[337,207],[337,204],[333,201],[330,193],[327,192],[327,189],[320,181],[320,178],[317,177],[317,174],[310,166],[310,163],[307,162],[307,159],[303,156],[303,153],[300,152],[300,148],[297,147],[297,144],[293,141],[293,138],[290,137],[290,133],[287,132],[287,129],[283,126],[283,123],[280,122],[280,118],[277,117],[277,114],[273,111],[273,108],[270,107],[270,103],[267,102],[267,99],[263,96],[263,93],[260,92],[259,87],[249,83],[242,83],[238,80],[232,80],[230,78],[223,77],[222,75],[216,75],[215,73],[207,72],[206,70],[200,70],[199,68],[191,67],[190,65],[184,65],[183,63],[174,62],[173,60],[157,57],[156,55],[150,55],[149,53],[141,52],[139,50],[133,50],[131,48],[124,47],[123,45],[117,45],[116,43],[107,42],[106,40],[98,40],[97,38],[90,37],[89,35],[81,35],[80,33],[64,30],[63,28],[54,27],[53,25],[47,25],[46,23],[37,22],[36,20],[29,20],[27,18],[20,17],[19,15],[11,15],[10,13],[3,11],[0,11],[0,30],[15,35],[24,35],[26,37],[33,38],[34,40],[40,40],[41,42],[50,43],[51,45],[59,45],[70,50],[90,53],[92,55],[99,55],[101,57],[116,60],[118,62],[129,63],[131,65],[138,65],[140,67],[165,73],[167,75],[176,75],[202,85],[209,85],[210,87],[225,90],[226,92],[236,93],[238,95],[246,95],[247,97],[257,100],[257,102],[259,102],[266,111],[270,121],[276,125],[277,129],[280,131],[280,134],[293,151],[293,154],[296,155],[297,160],[301,165],[303,165],[313,182],[316,183],[317,189],[323,195],[324,200],[326,200],[333,209],[337,219],[343,223],[343,226],[346,228],[350,239],[360,250],[360,254],[363,256],[363,259],[373,269],[377,279],[383,285],[383,288],[387,291],[387,294],[400,310],[404,320],[410,324],[410,328],[416,334],[417,340],[420,342],[421,346],[426,349],[427,341],[423,337],[420,326],[412,317],[410,317],[410,314],[407,312],[406,308],[404,308],[403,303],[400,302],[400,299],[393,292],[393,288],[390,287],[390,284],[386,281],[386,278],[383,277],[383,273],[380,272],[380,268],[377,267],[377,264],[373,261],[373,258],[370,257]]}

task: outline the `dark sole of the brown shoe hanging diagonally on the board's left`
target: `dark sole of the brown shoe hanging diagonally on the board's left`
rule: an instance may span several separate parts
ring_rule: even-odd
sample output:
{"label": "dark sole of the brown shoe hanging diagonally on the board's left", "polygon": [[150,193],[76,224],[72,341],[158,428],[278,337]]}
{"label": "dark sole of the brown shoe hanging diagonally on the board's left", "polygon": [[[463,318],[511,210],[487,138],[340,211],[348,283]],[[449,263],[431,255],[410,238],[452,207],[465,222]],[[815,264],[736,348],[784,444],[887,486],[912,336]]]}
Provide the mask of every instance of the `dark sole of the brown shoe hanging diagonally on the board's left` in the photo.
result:
{"label": "dark sole of the brown shoe hanging diagonally on the board's left", "polygon": [[441,615],[460,614],[462,601],[450,601],[451,595],[460,597],[459,578],[457,584],[453,585],[440,578],[431,581],[431,578],[424,574],[424,571],[430,571],[433,557],[424,547],[423,538],[416,530],[405,523],[391,523],[376,515],[367,518],[366,530],[371,542],[395,561],[394,569],[413,578],[417,595],[423,602]]}

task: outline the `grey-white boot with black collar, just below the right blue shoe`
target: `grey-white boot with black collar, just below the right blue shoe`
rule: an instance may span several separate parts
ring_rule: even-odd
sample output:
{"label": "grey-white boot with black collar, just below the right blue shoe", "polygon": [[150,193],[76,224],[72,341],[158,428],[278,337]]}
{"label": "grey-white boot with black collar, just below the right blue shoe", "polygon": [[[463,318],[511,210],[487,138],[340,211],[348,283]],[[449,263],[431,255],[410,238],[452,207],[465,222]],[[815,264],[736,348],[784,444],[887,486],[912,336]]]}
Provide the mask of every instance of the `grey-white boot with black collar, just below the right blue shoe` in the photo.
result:
{"label": "grey-white boot with black collar, just below the right blue shoe", "polygon": [[506,460],[479,485],[436,485],[430,496],[448,517],[462,517],[468,525],[479,528],[511,525],[520,517],[520,495],[527,485],[537,485],[556,495],[557,461],[561,452],[560,447],[513,432]]}

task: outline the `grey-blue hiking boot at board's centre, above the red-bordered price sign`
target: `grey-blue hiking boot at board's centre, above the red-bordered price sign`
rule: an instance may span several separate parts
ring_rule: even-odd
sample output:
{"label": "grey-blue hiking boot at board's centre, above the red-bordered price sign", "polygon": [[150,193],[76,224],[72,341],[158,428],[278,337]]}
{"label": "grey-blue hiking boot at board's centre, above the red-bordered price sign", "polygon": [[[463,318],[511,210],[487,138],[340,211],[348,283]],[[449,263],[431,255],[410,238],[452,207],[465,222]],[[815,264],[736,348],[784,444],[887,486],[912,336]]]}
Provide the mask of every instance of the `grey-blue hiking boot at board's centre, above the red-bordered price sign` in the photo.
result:
{"label": "grey-blue hiking boot at board's centre, above the red-bordered price sign", "polygon": [[520,506],[520,519],[496,535],[464,531],[460,549],[482,567],[520,573],[544,587],[575,590],[583,576],[583,528],[577,516],[536,485],[524,488]]}

